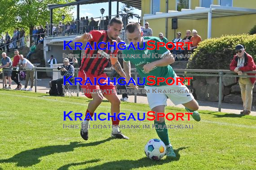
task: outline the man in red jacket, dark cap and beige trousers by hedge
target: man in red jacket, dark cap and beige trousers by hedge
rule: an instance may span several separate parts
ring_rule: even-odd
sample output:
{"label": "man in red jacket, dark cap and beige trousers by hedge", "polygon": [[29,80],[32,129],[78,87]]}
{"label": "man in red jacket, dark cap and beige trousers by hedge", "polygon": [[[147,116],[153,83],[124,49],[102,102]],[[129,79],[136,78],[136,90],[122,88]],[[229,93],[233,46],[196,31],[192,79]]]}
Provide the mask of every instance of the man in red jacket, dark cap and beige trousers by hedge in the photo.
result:
{"label": "man in red jacket, dark cap and beige trousers by hedge", "polygon": [[[235,47],[236,54],[230,64],[230,70],[238,73],[238,75],[253,75],[253,73],[245,73],[248,71],[256,70],[256,65],[253,61],[251,55],[247,54],[244,50],[244,47],[238,44]],[[256,81],[255,77],[247,77],[247,78],[238,78],[240,89],[241,89],[241,96],[243,100],[243,107],[244,110],[241,111],[241,114],[250,115],[251,107],[252,107],[252,89],[254,83]]]}

